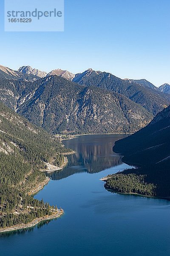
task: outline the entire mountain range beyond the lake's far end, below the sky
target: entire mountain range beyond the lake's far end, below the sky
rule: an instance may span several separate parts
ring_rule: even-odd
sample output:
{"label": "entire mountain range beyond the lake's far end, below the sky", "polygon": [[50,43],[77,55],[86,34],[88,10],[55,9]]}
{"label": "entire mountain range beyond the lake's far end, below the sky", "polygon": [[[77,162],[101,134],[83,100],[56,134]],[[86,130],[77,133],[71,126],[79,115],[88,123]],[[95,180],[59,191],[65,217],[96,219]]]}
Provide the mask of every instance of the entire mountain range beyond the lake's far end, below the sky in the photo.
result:
{"label": "entire mountain range beyond the lake's far end, below the sky", "polygon": [[54,134],[138,131],[170,104],[168,87],[92,69],[73,74],[0,66],[0,100]]}

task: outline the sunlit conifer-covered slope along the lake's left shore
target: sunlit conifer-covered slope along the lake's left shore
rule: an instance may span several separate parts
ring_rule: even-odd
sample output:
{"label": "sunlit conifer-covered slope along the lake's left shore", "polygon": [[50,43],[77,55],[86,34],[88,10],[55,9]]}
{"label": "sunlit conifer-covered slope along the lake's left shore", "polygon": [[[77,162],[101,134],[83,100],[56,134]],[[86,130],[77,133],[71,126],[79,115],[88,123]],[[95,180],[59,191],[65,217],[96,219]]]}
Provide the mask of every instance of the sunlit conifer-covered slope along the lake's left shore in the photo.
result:
{"label": "sunlit conifer-covered slope along the lake's left shore", "polygon": [[50,215],[55,207],[30,191],[47,181],[45,163],[61,166],[68,151],[55,136],[30,124],[0,102],[0,227]]}

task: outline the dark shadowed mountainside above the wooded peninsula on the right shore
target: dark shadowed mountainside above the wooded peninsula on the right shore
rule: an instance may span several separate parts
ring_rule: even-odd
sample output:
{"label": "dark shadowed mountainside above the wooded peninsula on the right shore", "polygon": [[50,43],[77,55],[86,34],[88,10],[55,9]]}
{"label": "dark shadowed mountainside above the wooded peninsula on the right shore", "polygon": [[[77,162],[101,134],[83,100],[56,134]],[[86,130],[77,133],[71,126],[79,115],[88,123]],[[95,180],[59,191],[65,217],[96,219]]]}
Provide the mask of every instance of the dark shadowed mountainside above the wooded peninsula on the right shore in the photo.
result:
{"label": "dark shadowed mountainside above the wooded peninsula on the right shore", "polygon": [[170,157],[170,107],[157,114],[149,125],[117,141],[113,150],[125,155],[124,160],[145,166]]}

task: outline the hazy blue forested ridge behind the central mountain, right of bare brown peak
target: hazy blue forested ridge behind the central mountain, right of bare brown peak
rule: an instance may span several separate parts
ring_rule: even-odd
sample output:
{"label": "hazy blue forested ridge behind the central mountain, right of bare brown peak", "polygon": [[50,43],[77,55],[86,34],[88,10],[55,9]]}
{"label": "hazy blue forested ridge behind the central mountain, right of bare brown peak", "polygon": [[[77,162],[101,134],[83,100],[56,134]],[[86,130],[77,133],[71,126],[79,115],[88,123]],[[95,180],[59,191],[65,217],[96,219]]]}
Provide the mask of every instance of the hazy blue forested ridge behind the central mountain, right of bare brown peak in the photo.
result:
{"label": "hazy blue forested ridge behind the central mountain, right of bare brown peak", "polygon": [[145,87],[143,84],[139,84],[129,80],[123,80],[110,73],[100,73],[93,77],[81,80],[81,84],[86,86],[96,86],[103,89],[111,90],[116,93],[121,93],[124,96],[136,102],[144,107],[153,115],[159,113],[163,108],[166,108],[170,103],[170,97],[158,90]]}

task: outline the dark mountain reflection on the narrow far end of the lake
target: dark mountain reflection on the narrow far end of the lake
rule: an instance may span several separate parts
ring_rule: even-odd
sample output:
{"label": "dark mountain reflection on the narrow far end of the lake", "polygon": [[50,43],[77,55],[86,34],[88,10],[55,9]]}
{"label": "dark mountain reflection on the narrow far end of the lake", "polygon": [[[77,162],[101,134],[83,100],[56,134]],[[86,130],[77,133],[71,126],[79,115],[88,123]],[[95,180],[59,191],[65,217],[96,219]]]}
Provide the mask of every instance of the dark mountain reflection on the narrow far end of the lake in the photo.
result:
{"label": "dark mountain reflection on the narrow far end of the lake", "polygon": [[[113,140],[111,139],[113,137]],[[122,139],[125,134],[109,134],[80,136],[72,140],[64,140],[67,148],[76,151],[68,155],[68,165],[62,171],[56,171],[48,176],[52,180],[60,180],[76,173],[102,172],[104,169],[120,165],[122,156],[112,151],[116,140]]]}

